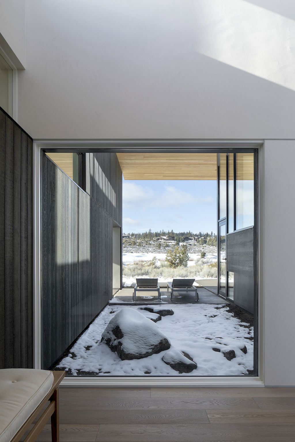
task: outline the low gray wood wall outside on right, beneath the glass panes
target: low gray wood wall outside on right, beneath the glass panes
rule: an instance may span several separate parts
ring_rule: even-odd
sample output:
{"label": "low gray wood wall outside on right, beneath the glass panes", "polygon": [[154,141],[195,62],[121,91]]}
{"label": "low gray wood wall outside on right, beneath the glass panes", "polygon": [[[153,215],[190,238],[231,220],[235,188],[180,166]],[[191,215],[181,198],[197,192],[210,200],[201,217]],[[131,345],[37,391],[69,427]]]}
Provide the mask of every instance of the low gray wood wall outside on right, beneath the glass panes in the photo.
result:
{"label": "low gray wood wall outside on right, beneath the glass panes", "polygon": [[227,271],[234,272],[234,303],[254,313],[254,229],[226,236]]}

